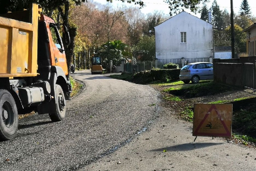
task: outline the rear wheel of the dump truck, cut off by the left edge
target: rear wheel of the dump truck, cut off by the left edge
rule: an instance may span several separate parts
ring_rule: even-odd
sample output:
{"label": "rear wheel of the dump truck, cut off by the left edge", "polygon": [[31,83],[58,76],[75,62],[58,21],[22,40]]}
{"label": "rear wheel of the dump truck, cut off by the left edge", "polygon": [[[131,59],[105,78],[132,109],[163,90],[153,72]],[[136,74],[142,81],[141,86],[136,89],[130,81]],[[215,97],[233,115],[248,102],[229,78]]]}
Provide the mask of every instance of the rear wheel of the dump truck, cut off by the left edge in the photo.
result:
{"label": "rear wheel of the dump truck, cut off by the left edge", "polygon": [[19,126],[16,103],[7,90],[0,90],[0,140],[9,140],[15,137]]}

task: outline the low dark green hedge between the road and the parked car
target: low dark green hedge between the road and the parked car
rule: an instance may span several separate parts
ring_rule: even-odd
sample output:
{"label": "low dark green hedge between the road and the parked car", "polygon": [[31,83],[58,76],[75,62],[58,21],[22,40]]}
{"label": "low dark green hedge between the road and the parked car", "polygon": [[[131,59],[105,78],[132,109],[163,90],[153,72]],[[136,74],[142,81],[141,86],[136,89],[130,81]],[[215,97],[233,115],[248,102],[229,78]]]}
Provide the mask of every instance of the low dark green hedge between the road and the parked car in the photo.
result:
{"label": "low dark green hedge between the road and the parked car", "polygon": [[173,81],[179,80],[180,69],[159,69],[141,71],[134,74],[132,82],[137,84],[147,84],[153,81]]}

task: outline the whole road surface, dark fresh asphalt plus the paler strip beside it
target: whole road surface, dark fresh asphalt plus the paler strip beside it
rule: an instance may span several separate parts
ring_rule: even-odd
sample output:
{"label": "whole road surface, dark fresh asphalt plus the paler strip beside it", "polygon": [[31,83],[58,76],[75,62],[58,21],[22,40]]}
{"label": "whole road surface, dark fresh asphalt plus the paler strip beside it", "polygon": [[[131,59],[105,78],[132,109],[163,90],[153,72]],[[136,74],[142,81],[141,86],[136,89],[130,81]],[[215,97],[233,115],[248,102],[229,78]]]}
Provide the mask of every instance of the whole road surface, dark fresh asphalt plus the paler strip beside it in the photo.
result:
{"label": "whole road surface, dark fresh asphalt plus the paler strip beside it", "polygon": [[66,119],[21,119],[18,135],[0,142],[0,171],[256,170],[256,149],[221,138],[194,142],[192,123],[160,105],[151,87],[89,70],[72,76],[85,87],[67,102]]}

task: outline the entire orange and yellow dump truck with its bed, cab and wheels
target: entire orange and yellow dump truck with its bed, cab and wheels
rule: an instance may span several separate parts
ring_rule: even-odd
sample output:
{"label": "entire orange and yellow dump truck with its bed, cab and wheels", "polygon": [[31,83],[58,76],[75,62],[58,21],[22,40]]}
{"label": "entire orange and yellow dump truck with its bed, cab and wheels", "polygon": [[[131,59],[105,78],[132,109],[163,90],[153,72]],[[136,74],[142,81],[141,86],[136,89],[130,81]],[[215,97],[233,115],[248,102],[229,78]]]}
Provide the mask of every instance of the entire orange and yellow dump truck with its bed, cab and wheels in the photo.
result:
{"label": "entire orange and yellow dump truck with its bed, cab and wheels", "polygon": [[31,4],[29,10],[0,15],[1,140],[17,134],[19,114],[36,111],[54,122],[66,115],[72,87],[65,50],[58,24],[41,11]]}

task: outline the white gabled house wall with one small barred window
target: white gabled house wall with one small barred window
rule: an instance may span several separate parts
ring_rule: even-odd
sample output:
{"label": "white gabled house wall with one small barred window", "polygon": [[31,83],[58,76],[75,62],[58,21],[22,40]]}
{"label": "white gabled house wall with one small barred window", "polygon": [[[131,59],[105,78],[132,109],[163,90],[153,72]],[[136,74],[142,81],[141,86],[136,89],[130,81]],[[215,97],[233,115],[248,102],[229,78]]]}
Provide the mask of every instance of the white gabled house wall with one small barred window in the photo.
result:
{"label": "white gabled house wall with one small barred window", "polygon": [[208,58],[213,50],[213,25],[180,12],[155,26],[157,59]]}

